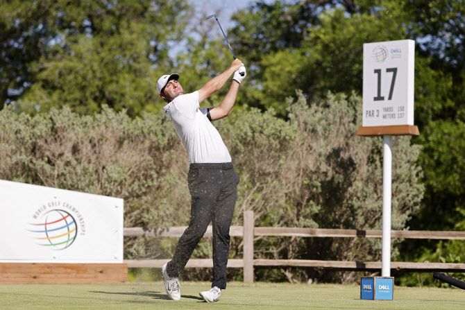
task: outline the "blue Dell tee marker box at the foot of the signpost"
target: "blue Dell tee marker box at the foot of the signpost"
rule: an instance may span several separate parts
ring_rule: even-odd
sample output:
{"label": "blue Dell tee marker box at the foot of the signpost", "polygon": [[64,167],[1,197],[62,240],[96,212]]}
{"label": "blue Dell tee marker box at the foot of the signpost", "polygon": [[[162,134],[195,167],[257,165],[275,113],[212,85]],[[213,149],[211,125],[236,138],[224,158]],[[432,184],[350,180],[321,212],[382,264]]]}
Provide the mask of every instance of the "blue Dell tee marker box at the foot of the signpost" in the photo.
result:
{"label": "blue Dell tee marker box at the foot of the signpost", "polygon": [[360,279],[360,299],[393,300],[394,277],[362,277]]}

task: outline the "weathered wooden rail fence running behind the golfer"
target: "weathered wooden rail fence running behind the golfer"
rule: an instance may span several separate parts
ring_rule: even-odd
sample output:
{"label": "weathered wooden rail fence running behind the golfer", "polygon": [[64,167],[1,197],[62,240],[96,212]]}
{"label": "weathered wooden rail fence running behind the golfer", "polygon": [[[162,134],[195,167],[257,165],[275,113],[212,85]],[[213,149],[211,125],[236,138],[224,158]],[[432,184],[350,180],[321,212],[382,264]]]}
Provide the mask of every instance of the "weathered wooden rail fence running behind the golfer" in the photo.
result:
{"label": "weathered wooden rail fence running behind the golfer", "polygon": [[[171,227],[147,230],[141,227],[124,228],[124,236],[164,236],[180,237],[187,227]],[[208,227],[204,237],[212,236],[212,226]],[[231,226],[230,236],[244,238],[242,259],[229,259],[228,268],[244,268],[244,282],[253,282],[254,267],[303,267],[330,268],[333,270],[381,270],[381,261],[318,261],[304,259],[253,259],[254,236],[301,236],[301,237],[341,237],[341,238],[381,238],[382,230],[331,230],[299,227],[255,227],[253,212],[244,212],[244,226]],[[455,239],[465,240],[465,232],[391,230],[391,238],[404,239]],[[128,267],[161,268],[169,259],[128,259]],[[212,268],[212,259],[190,259],[187,268]],[[465,264],[451,263],[414,263],[391,261],[391,270],[400,271],[443,271],[465,272]]]}

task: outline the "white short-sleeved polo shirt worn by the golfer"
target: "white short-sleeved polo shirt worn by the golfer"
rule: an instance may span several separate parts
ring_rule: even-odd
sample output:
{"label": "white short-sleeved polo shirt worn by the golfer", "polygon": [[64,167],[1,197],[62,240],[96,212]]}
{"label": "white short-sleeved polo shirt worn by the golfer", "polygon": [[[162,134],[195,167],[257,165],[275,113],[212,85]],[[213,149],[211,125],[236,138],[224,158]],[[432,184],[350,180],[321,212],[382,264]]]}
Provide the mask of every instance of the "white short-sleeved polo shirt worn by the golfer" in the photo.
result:
{"label": "white short-sleeved polo shirt worn by the golfer", "polygon": [[189,154],[189,163],[231,162],[228,148],[201,109],[198,92],[177,96],[163,108]]}

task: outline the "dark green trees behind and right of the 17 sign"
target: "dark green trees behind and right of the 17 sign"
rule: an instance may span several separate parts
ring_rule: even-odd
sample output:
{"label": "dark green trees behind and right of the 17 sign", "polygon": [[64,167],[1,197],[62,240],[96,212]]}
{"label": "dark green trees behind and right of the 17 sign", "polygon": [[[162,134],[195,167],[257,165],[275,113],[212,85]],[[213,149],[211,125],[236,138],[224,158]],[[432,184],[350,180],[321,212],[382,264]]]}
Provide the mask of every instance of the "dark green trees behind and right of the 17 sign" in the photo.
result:
{"label": "dark green trees behind and right of the 17 sign", "polygon": [[[409,225],[453,230],[465,221],[465,6],[464,1],[275,1],[236,15],[230,30],[244,59],[253,60],[255,83],[248,105],[273,107],[302,89],[306,98],[331,92],[362,94],[362,44],[416,40],[415,123],[423,150],[425,198]],[[307,17],[298,14],[306,10]],[[296,25],[296,27],[289,27]],[[287,29],[287,30],[286,30]],[[285,35],[294,31],[297,35]],[[260,53],[260,52],[264,53]],[[312,102],[312,101],[310,101]],[[405,242],[405,252],[416,244]],[[434,248],[436,241],[428,246]],[[454,247],[451,247],[454,248]],[[421,257],[421,252],[415,252]]]}

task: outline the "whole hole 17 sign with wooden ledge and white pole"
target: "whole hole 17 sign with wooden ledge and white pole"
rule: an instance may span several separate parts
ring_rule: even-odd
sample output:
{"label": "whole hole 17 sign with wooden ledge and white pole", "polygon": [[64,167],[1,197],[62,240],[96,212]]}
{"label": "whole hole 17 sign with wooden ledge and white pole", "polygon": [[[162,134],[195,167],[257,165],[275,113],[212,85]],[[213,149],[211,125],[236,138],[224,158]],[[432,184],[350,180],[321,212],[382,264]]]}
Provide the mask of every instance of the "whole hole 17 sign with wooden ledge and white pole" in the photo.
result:
{"label": "whole hole 17 sign with wooden ledge and white pole", "polygon": [[419,135],[414,126],[414,40],[363,44],[361,136],[383,136],[382,277],[391,274],[392,135]]}

